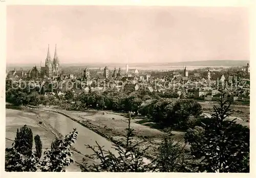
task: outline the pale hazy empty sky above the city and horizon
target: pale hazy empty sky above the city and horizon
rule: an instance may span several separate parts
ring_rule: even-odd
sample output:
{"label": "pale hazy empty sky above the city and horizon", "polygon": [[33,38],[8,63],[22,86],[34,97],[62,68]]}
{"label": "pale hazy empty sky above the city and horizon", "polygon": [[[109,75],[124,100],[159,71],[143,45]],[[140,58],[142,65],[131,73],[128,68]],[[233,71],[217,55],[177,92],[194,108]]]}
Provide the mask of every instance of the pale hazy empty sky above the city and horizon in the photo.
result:
{"label": "pale hazy empty sky above the city and horizon", "polygon": [[8,6],[7,63],[249,60],[245,8]]}

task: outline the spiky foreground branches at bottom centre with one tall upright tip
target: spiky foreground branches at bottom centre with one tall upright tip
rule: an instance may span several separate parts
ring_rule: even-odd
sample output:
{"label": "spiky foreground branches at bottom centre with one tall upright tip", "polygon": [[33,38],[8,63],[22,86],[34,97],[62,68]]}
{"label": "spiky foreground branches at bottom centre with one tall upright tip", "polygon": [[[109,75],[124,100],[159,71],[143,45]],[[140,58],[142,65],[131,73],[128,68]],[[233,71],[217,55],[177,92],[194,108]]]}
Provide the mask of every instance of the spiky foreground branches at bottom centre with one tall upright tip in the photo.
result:
{"label": "spiky foreground branches at bottom centre with one tall upright tip", "polygon": [[88,165],[84,159],[80,166],[83,172],[85,171],[107,171],[107,172],[147,172],[154,171],[153,162],[144,157],[144,152],[149,148],[139,149],[139,145],[143,142],[133,144],[131,139],[133,136],[133,129],[131,128],[131,114],[129,117],[128,128],[126,128],[126,145],[125,149],[120,145],[114,145],[115,153],[106,151],[97,142],[97,146],[87,145],[94,151],[92,154],[99,164]]}

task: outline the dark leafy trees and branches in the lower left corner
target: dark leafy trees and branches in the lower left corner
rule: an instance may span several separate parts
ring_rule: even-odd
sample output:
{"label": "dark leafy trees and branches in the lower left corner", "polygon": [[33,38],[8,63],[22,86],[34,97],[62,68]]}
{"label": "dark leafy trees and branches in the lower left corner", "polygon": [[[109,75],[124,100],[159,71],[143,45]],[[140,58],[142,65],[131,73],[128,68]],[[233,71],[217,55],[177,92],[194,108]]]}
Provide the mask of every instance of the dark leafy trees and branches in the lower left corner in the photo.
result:
{"label": "dark leafy trees and branches in the lower left corner", "polygon": [[[13,143],[12,148],[6,149],[6,171],[47,171],[47,172],[59,172],[65,171],[65,167],[69,166],[74,161],[70,158],[72,151],[70,150],[71,145],[74,143],[74,140],[77,139],[77,131],[74,129],[69,135],[67,135],[63,140],[56,139],[51,146],[51,150],[46,150],[44,152],[44,159],[39,161],[39,154],[41,154],[40,137],[35,136],[36,143],[36,152],[28,154],[28,151],[23,151],[20,148],[27,150],[28,143],[26,142],[28,138],[27,135],[31,136],[31,129],[28,127],[21,128],[20,132],[17,131],[16,142]],[[26,134],[24,134],[24,132]],[[23,134],[22,134],[23,133]],[[28,134],[29,133],[29,134]],[[33,134],[32,134],[33,136]],[[17,141],[19,140],[19,141]],[[33,137],[32,137],[33,140]],[[20,146],[17,147],[16,144],[20,143]],[[26,143],[26,144],[24,144]],[[30,148],[30,147],[29,147]]]}

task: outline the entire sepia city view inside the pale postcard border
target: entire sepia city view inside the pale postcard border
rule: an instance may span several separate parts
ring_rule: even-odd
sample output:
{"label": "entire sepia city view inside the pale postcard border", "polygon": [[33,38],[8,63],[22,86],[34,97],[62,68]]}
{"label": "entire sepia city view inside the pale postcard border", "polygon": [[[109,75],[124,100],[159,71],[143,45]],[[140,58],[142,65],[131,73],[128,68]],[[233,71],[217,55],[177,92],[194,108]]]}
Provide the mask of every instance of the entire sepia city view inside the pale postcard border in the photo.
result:
{"label": "entire sepia city view inside the pale postcard border", "polygon": [[249,17],[6,6],[5,171],[249,173]]}

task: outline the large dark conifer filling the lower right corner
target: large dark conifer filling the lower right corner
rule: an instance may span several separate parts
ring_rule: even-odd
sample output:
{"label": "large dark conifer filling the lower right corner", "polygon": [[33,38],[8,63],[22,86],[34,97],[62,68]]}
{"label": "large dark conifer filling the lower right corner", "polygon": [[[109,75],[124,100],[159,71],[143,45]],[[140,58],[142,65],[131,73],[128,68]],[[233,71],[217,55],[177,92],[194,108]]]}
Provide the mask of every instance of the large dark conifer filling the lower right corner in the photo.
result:
{"label": "large dark conifer filling the lower right corner", "polygon": [[201,159],[198,171],[249,172],[249,128],[228,121],[230,104],[222,95],[219,107],[214,106],[210,122],[199,135],[187,134],[191,154]]}

